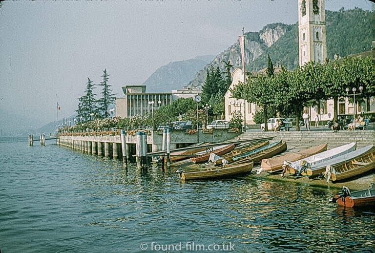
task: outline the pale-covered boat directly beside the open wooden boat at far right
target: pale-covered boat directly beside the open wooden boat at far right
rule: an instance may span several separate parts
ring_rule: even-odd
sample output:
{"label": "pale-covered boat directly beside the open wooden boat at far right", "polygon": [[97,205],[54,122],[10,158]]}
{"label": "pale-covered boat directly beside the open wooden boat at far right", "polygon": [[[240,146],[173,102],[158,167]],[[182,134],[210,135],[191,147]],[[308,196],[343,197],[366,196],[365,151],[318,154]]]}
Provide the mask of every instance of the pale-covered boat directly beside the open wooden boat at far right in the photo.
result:
{"label": "pale-covered boat directly beside the open wooden boat at far right", "polygon": [[[346,164],[347,162],[350,162],[354,159],[358,159],[359,157],[362,157],[368,153],[374,152],[375,148],[374,145],[369,145],[364,148],[359,148],[355,151],[349,152],[347,154],[335,157],[333,159],[324,161],[322,163],[316,164],[311,166],[310,169],[306,169],[306,173],[302,173],[304,175],[307,175],[308,177],[315,177],[319,174],[322,174],[326,171],[327,166],[332,166],[333,168],[338,167],[340,165]],[[345,167],[345,165],[343,165]],[[346,165],[348,166],[348,165]],[[355,165],[351,165],[352,168],[354,168]],[[360,166],[359,166],[360,167]],[[355,168],[358,168],[357,166]],[[363,168],[366,169],[366,168]],[[333,169],[332,169],[333,170]],[[358,170],[359,171],[359,170]],[[334,171],[333,171],[334,172]],[[333,173],[331,172],[331,174]]]}

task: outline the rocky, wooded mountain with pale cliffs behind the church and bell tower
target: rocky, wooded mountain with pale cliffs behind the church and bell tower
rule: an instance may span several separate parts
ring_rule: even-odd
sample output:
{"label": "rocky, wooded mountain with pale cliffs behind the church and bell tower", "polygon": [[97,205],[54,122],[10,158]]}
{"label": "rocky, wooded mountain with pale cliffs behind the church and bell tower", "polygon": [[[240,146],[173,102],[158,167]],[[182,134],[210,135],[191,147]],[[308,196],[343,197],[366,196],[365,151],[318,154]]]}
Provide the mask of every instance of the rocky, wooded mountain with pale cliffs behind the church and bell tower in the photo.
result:
{"label": "rocky, wooded mountain with pale cliffs behind the church and bell tower", "polygon": [[[344,57],[363,51],[371,50],[372,43],[372,13],[359,8],[338,12],[326,10],[327,24],[327,55]],[[258,71],[267,66],[269,54],[274,65],[284,64],[293,70],[299,64],[298,56],[298,24],[282,23],[267,24],[259,32],[246,33],[245,65],[248,71]],[[210,66],[224,71],[223,61],[230,61],[234,68],[242,67],[239,42],[230,46],[218,55],[211,63],[201,69],[192,81],[190,87],[200,87],[204,83]]]}

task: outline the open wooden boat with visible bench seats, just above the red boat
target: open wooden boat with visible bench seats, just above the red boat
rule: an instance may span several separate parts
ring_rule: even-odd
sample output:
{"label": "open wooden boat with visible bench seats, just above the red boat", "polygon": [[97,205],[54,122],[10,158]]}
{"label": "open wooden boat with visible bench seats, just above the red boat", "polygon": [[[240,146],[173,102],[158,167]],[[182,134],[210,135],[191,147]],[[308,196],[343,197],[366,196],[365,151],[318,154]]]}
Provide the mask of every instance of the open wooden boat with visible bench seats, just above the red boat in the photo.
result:
{"label": "open wooden boat with visible bench seats, just above the red boat", "polygon": [[375,169],[375,152],[368,152],[351,161],[332,166],[331,180],[339,181]]}

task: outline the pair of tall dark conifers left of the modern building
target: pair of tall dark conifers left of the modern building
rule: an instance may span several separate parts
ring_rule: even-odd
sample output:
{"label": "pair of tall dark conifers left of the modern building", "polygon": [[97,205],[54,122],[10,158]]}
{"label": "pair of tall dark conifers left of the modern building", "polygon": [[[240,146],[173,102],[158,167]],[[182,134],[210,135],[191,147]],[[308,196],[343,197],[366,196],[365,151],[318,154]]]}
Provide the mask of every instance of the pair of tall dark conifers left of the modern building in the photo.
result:
{"label": "pair of tall dark conifers left of the modern building", "polygon": [[103,70],[103,81],[97,86],[102,87],[102,92],[100,93],[102,97],[96,99],[96,94],[94,89],[96,88],[95,84],[92,83],[90,78],[87,78],[87,84],[85,89],[85,94],[78,99],[78,109],[77,118],[83,118],[84,121],[92,120],[94,118],[108,118],[109,117],[109,107],[115,103],[116,94],[112,93],[110,87],[112,85],[108,84],[108,77],[110,75],[107,73],[107,70]]}

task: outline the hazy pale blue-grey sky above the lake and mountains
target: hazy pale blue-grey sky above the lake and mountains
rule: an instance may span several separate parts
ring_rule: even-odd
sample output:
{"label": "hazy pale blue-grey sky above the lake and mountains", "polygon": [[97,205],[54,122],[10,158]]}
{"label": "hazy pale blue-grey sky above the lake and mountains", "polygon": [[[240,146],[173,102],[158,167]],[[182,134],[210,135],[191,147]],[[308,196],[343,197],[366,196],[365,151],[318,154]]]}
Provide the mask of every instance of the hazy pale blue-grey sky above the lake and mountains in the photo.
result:
{"label": "hazy pale blue-grey sky above the lake and mountains", "polygon": [[[218,55],[238,35],[297,22],[297,0],[2,1],[0,111],[40,126],[77,109],[87,77],[112,90],[142,84],[169,62]],[[372,9],[368,0],[326,0],[326,9]],[[99,94],[100,90],[96,89]]]}

